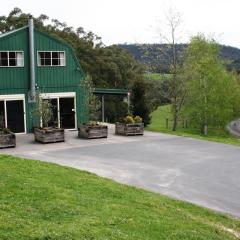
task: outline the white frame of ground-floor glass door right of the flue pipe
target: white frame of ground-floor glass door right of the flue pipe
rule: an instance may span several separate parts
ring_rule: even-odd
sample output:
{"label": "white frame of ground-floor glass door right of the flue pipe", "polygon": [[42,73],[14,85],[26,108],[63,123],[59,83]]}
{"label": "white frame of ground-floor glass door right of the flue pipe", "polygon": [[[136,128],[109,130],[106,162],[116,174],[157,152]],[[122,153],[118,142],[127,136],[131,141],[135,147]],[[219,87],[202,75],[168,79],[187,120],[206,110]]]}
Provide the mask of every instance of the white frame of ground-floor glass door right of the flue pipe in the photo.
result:
{"label": "white frame of ground-floor glass door right of the flue pipe", "polygon": [[[60,128],[60,104],[59,98],[74,98],[74,109],[72,111],[75,112],[75,128],[66,129],[68,131],[77,130],[77,102],[76,102],[76,93],[75,92],[60,92],[60,93],[41,93],[40,98],[42,99],[57,99],[57,108],[58,108],[58,127]],[[40,120],[42,124],[42,120]]]}

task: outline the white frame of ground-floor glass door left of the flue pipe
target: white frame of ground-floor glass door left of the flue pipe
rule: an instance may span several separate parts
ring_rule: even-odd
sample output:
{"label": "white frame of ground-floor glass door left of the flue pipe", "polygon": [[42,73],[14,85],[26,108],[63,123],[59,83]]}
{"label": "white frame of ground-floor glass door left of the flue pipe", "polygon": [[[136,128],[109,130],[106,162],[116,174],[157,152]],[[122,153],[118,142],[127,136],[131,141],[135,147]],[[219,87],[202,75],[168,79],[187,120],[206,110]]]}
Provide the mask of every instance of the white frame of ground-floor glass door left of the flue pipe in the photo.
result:
{"label": "white frame of ground-floor glass door left of the flue pipe", "polygon": [[26,134],[27,133],[27,121],[26,121],[26,104],[24,94],[10,94],[10,95],[0,95],[0,101],[4,102],[4,118],[5,127],[7,128],[7,101],[23,101],[23,116],[24,116],[24,132],[15,134]]}

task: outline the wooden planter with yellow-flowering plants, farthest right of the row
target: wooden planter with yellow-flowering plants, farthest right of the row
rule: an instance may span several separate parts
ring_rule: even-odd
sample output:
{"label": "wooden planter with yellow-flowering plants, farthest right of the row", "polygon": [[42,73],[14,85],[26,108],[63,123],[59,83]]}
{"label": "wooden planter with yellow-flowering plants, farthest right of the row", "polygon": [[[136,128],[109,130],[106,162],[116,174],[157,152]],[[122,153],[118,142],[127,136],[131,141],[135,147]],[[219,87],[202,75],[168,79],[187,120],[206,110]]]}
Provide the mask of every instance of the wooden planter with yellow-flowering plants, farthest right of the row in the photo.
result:
{"label": "wooden planter with yellow-flowering plants, farthest right of the row", "polygon": [[124,136],[143,135],[144,123],[139,116],[126,116],[122,122],[115,124],[115,134]]}

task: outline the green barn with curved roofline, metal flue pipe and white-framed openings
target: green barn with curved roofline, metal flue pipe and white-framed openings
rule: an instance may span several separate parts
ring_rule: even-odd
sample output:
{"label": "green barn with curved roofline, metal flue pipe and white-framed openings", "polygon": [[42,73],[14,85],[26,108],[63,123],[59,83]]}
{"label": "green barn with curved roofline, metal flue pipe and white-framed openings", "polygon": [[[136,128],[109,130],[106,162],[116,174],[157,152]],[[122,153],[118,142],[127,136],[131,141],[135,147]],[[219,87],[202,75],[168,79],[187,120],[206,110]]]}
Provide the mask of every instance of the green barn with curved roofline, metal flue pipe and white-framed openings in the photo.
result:
{"label": "green barn with curved roofline, metal flue pipe and white-framed openings", "polygon": [[84,73],[66,43],[28,26],[0,35],[0,114],[15,133],[32,132],[36,91],[54,106],[54,122],[76,129],[87,121]]}

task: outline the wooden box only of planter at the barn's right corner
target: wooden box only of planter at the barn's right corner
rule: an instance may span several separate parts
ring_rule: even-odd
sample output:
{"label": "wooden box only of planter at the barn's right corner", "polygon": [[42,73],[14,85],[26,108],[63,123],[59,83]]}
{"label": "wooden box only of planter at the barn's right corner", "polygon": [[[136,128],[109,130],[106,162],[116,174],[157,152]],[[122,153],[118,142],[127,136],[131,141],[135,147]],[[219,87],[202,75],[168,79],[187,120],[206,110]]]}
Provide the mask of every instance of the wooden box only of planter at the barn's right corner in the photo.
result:
{"label": "wooden box only of planter at the barn's right corner", "polygon": [[108,127],[104,125],[90,126],[81,125],[78,128],[78,137],[86,139],[107,138]]}

